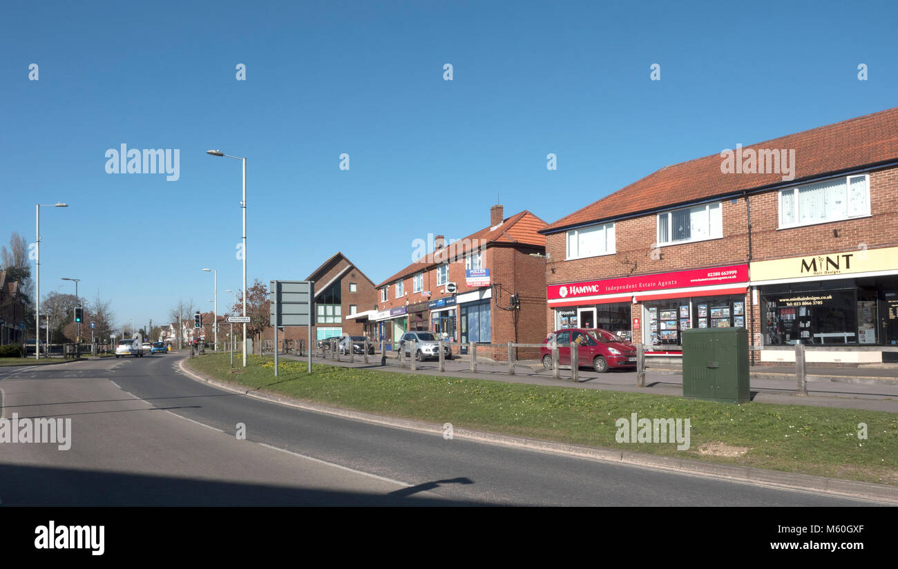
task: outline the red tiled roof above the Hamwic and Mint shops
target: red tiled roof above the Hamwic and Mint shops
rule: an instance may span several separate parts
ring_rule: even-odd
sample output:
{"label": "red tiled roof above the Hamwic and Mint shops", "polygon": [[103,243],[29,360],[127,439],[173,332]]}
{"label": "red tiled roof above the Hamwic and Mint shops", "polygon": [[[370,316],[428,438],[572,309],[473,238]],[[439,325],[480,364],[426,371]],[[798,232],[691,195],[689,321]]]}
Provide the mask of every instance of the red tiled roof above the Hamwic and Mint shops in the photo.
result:
{"label": "red tiled roof above the Hamwic and Mint shops", "polygon": [[[795,180],[893,161],[898,159],[898,107],[748,144],[743,146],[743,155],[749,148],[794,149]],[[722,162],[723,158],[717,153],[665,166],[594,204],[550,223],[541,232],[687,204],[784,181],[783,174],[778,172],[723,173],[720,171]]]}

